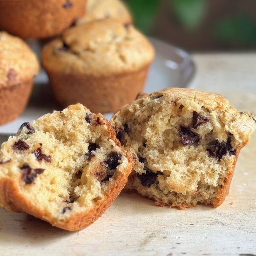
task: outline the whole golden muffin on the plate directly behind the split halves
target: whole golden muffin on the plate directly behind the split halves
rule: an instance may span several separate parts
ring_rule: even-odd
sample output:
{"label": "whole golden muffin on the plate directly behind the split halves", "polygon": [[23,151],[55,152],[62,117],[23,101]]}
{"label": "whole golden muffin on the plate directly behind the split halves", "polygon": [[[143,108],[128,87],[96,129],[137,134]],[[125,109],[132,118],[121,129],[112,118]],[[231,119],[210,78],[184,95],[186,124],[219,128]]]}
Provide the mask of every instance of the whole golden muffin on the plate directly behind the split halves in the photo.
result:
{"label": "whole golden muffin on the plate directly behind the split halves", "polygon": [[153,61],[150,42],[132,25],[112,19],[72,27],[42,50],[56,100],[106,113],[141,92]]}

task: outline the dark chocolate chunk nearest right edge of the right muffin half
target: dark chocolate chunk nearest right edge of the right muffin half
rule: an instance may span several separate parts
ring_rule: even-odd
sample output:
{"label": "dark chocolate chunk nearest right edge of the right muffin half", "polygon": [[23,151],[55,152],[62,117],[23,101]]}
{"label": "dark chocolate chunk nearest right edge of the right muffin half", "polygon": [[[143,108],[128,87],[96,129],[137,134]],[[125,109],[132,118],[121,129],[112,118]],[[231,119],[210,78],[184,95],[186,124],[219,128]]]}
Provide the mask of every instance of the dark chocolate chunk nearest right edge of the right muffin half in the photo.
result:
{"label": "dark chocolate chunk nearest right edge of the right muffin half", "polygon": [[209,155],[218,158],[218,160],[221,160],[223,155],[235,155],[236,150],[232,150],[231,145],[232,136],[233,135],[229,134],[226,142],[218,140],[213,141],[211,147],[206,149]]}

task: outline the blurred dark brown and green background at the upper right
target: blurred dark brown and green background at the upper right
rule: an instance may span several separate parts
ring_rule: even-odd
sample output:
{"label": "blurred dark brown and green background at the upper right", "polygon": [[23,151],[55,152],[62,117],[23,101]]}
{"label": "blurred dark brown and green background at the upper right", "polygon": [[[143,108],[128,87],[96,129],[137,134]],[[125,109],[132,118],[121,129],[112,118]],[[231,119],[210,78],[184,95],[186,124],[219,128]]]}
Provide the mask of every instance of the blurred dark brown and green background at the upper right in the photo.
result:
{"label": "blurred dark brown and green background at the upper right", "polygon": [[125,0],[143,33],[188,51],[256,49],[256,0]]}

